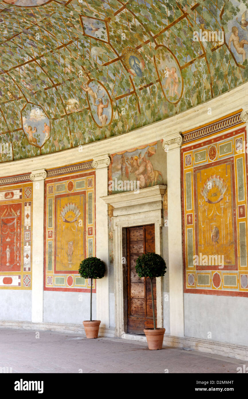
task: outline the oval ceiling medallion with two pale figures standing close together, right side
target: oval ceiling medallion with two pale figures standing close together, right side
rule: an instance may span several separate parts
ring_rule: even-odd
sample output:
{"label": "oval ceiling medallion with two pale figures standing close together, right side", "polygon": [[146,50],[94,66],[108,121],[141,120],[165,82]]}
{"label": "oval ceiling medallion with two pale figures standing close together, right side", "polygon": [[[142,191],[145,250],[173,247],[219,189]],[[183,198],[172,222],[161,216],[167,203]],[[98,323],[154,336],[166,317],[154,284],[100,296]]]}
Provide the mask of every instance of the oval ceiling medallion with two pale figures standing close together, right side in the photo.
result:
{"label": "oval ceiling medallion with two pale figures standing close together, right side", "polygon": [[178,103],[183,94],[183,77],[175,55],[161,45],[157,47],[154,64],[163,95],[170,103]]}

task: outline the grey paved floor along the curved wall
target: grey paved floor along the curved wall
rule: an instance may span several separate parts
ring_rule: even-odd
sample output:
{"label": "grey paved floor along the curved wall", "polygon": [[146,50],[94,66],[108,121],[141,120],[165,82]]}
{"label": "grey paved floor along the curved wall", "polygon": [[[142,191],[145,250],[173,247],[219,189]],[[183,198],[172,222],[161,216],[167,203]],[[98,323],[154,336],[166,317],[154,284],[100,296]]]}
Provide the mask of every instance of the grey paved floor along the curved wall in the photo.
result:
{"label": "grey paved floor along the curved wall", "polygon": [[[119,338],[0,328],[0,367],[12,373],[237,373],[244,361]],[[168,370],[168,371],[167,371]]]}

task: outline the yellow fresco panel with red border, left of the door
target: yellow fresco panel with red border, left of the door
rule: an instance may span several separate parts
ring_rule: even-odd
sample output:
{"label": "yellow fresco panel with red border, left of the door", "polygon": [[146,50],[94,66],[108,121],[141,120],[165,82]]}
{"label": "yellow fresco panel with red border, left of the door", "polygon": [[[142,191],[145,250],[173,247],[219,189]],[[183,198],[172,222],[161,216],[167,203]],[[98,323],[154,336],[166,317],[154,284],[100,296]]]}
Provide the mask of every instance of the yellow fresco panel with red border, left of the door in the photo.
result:
{"label": "yellow fresco panel with red border, left of the door", "polygon": [[88,292],[78,269],[95,256],[94,172],[45,181],[45,237],[44,290]]}

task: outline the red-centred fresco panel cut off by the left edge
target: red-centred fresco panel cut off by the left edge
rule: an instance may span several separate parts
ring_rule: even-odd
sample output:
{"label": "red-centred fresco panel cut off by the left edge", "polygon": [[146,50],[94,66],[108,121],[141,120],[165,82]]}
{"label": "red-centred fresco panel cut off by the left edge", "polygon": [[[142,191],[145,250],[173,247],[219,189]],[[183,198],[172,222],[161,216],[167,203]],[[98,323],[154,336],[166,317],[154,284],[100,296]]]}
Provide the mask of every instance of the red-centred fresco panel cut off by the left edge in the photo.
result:
{"label": "red-centred fresco panel cut off by the left edge", "polygon": [[32,189],[0,186],[0,289],[31,289]]}

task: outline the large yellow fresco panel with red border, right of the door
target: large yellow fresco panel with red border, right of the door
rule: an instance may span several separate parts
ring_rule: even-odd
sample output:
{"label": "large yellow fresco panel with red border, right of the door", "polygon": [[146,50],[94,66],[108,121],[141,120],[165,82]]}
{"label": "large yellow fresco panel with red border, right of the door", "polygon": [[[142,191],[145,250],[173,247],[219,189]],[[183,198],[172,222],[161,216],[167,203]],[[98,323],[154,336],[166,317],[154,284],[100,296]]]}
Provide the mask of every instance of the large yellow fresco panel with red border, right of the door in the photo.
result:
{"label": "large yellow fresco panel with red border, right of the door", "polygon": [[182,146],[185,292],[248,296],[246,142],[240,127]]}

